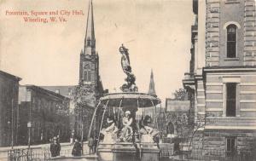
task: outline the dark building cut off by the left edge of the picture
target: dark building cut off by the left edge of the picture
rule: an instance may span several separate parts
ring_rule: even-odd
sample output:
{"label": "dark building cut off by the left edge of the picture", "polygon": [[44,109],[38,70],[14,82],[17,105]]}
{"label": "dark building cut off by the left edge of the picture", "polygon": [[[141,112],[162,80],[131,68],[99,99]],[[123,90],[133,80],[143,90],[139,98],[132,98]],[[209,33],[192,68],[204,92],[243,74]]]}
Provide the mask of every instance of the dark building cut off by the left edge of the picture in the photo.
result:
{"label": "dark building cut off by the left edge of the picture", "polygon": [[14,75],[0,71],[0,147],[17,143],[17,110],[19,81]]}

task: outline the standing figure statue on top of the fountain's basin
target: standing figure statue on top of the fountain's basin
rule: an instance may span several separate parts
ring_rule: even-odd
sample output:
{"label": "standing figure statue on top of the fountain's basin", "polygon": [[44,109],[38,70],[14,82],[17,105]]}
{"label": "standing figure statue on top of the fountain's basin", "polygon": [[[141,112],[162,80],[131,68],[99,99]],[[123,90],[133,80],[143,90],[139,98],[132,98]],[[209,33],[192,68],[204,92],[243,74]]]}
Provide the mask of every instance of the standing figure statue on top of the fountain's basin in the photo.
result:
{"label": "standing figure statue on top of the fountain's basin", "polygon": [[121,58],[121,65],[123,68],[123,71],[127,75],[127,78],[125,78],[125,82],[120,89],[123,92],[137,92],[137,86],[135,83],[136,77],[131,72],[131,65],[130,65],[130,58],[128,49],[125,48],[125,46],[122,44],[122,46],[119,48],[119,52],[122,55]]}

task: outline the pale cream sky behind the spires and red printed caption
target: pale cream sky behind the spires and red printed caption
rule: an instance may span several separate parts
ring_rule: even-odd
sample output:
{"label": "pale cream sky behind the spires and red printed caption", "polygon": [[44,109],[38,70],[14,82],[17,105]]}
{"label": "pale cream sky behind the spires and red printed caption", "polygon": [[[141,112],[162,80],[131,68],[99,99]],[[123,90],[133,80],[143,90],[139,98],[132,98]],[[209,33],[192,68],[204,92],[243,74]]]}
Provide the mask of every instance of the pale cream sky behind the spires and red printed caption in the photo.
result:
{"label": "pale cream sky behind the spires and red printed caption", "polygon": [[[93,6],[104,89],[119,91],[125,83],[119,54],[122,43],[129,49],[140,92],[148,92],[151,69],[162,101],[183,87],[195,18],[192,0],[93,0]],[[49,15],[57,10],[58,15]],[[73,10],[83,14],[65,14]],[[0,0],[0,69],[22,78],[20,84],[78,84],[87,10],[88,0]],[[14,15],[17,11],[30,15]],[[35,17],[32,11],[48,14]],[[58,21],[24,20],[52,16]],[[61,22],[59,17],[67,21]]]}

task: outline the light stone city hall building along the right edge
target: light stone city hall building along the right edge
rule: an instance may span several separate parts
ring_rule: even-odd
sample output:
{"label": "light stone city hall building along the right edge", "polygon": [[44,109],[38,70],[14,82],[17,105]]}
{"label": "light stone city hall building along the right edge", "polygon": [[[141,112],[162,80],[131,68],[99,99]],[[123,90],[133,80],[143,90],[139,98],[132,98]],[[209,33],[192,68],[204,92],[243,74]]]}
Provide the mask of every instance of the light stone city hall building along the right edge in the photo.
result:
{"label": "light stone city hall building along the right edge", "polygon": [[195,116],[193,147],[227,155],[255,150],[254,0],[194,0],[190,71],[184,87]]}

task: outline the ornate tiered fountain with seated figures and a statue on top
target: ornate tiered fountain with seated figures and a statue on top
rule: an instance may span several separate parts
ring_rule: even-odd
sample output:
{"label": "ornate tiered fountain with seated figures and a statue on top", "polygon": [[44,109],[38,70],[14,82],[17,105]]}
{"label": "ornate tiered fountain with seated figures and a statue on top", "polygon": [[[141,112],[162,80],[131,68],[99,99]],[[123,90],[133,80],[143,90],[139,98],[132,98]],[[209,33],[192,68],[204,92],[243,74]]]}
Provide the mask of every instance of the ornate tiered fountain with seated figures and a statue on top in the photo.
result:
{"label": "ornate tiered fountain with seated figures and a statue on top", "polygon": [[98,130],[94,134],[98,138],[96,152],[99,160],[158,161],[160,147],[155,108],[160,104],[160,99],[156,95],[138,92],[128,49],[122,45],[119,53],[127,76],[120,87],[122,92],[102,96],[93,114],[89,137],[93,127],[96,127],[96,114],[100,113],[102,117],[98,120]]}

